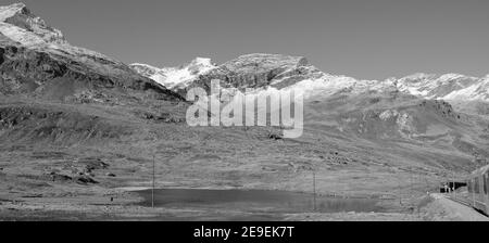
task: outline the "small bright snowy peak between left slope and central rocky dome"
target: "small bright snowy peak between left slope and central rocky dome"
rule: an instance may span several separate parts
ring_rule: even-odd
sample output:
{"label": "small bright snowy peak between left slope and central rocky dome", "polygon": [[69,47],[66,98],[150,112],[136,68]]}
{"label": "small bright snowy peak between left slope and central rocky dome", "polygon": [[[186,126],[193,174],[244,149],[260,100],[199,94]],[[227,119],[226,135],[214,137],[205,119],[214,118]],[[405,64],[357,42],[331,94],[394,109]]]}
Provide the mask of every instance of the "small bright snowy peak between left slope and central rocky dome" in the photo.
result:
{"label": "small bright snowy peak between left slope and central rocky dome", "polygon": [[168,89],[183,88],[216,66],[210,59],[197,57],[186,65],[179,67],[158,68],[148,64],[134,63],[129,65],[140,75],[151,78]]}

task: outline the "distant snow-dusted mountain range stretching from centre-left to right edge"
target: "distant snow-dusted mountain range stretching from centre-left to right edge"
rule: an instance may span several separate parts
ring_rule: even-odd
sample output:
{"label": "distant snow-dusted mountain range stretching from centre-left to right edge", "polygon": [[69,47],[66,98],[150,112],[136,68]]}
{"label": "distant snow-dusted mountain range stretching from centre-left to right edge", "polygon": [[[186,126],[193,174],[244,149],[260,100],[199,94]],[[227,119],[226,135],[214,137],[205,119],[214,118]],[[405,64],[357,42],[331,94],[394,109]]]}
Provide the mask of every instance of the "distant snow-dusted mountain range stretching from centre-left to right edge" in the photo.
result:
{"label": "distant snow-dusted mountain range stretching from centre-left to right edge", "polygon": [[218,66],[211,64],[209,59],[197,59],[188,65],[171,68],[146,64],[130,66],[180,94],[192,87],[209,89],[211,80],[218,79],[227,88],[296,90],[306,98],[337,92],[400,91],[428,100],[489,102],[489,76],[414,74],[399,79],[361,80],[324,73],[302,56],[255,53]]}

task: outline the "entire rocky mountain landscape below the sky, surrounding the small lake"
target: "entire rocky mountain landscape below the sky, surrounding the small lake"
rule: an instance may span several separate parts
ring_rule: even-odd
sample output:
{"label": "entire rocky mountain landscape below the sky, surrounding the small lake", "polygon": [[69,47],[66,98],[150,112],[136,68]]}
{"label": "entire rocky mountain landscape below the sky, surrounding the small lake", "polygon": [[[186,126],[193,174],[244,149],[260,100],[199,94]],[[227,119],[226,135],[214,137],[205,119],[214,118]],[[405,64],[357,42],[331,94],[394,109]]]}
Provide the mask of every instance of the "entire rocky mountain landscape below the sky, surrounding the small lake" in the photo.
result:
{"label": "entire rocky mountain landscape below the sky, surrounding the small lake", "polygon": [[[187,90],[212,79],[242,92],[301,91],[304,135],[187,126]],[[159,188],[311,192],[315,172],[321,194],[387,199],[389,213],[363,219],[417,219],[427,191],[487,163],[488,102],[488,77],[358,80],[280,54],[126,65],[71,46],[25,4],[1,7],[0,219],[217,214],[136,206],[131,189],[151,186],[153,161]]]}

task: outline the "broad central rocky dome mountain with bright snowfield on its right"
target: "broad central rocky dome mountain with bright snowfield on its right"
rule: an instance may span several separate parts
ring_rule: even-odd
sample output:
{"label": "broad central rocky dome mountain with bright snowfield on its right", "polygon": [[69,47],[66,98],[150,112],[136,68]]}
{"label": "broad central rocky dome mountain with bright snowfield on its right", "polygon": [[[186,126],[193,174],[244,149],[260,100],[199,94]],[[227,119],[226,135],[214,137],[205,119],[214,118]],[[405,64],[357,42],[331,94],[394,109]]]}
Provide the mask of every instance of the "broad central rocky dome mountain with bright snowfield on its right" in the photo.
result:
{"label": "broad central rocky dome mountain with bright snowfield on its right", "polygon": [[[241,55],[188,82],[187,89],[202,87],[209,90],[212,80],[230,89],[254,89],[254,93],[293,90],[304,98],[328,97],[337,92],[361,93],[368,90],[394,89],[393,80],[358,80],[352,77],[324,73],[303,56],[254,53]],[[185,94],[183,90],[175,90]],[[249,92],[249,91],[248,91]]]}

